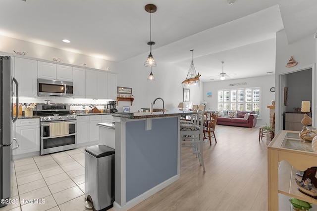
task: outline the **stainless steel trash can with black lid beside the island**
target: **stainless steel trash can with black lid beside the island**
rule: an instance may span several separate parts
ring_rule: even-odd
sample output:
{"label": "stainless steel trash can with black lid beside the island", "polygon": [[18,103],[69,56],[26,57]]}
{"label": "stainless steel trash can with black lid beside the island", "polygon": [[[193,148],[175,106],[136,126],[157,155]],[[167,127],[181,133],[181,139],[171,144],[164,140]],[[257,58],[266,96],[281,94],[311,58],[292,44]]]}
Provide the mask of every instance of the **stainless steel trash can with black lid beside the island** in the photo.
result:
{"label": "stainless steel trash can with black lid beside the island", "polygon": [[114,149],[96,145],[85,149],[85,201],[94,211],[106,211],[114,202]]}

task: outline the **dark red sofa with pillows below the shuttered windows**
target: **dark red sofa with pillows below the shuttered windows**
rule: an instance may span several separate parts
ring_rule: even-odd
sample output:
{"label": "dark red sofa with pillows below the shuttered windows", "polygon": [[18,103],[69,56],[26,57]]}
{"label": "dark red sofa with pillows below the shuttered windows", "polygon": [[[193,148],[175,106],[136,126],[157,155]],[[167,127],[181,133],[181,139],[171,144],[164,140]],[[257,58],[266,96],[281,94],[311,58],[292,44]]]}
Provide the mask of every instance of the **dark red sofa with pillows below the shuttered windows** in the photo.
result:
{"label": "dark red sofa with pillows below the shuttered windows", "polygon": [[217,125],[255,127],[258,115],[255,111],[218,111]]}

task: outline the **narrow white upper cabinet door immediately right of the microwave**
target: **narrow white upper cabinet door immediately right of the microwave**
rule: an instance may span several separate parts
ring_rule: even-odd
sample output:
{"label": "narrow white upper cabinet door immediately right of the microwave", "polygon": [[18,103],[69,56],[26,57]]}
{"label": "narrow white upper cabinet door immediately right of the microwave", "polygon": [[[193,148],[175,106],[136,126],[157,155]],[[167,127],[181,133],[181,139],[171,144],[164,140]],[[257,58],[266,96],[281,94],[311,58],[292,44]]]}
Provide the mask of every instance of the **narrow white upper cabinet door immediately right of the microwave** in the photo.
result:
{"label": "narrow white upper cabinet door immediately right of the microwave", "polygon": [[73,68],[73,86],[74,86],[74,98],[86,97],[86,81],[85,81],[85,69]]}

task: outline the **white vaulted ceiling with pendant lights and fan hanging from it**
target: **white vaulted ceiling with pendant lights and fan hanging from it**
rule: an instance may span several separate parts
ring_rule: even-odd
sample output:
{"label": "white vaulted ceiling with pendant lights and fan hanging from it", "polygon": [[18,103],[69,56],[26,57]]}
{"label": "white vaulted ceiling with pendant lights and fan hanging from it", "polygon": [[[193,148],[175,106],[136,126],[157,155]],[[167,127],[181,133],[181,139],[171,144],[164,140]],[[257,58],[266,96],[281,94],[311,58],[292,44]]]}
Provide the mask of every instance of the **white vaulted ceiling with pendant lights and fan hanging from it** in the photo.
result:
{"label": "white vaulted ceiling with pendant lights and fan hanging from it", "polygon": [[154,59],[175,63],[184,79],[191,49],[203,82],[217,80],[221,61],[234,78],[274,74],[275,33],[285,29],[291,43],[317,30],[317,0],[0,0],[0,35],[142,66],[150,50],[148,3],[158,7]]}

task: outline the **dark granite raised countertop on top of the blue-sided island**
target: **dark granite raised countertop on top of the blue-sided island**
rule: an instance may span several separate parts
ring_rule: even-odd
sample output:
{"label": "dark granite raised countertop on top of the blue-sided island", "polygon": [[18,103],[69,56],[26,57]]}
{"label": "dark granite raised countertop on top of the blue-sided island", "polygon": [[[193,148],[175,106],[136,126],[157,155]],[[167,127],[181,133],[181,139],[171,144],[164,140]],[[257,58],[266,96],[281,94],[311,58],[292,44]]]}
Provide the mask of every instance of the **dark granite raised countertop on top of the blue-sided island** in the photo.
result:
{"label": "dark granite raised countertop on top of the blue-sided island", "polygon": [[193,111],[179,111],[179,109],[169,110],[165,112],[135,112],[135,113],[114,113],[113,117],[121,117],[127,119],[144,119],[144,118],[154,118],[154,117],[170,117],[170,116],[180,116],[187,114],[196,114]]}

